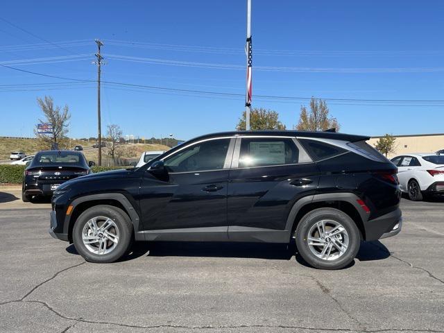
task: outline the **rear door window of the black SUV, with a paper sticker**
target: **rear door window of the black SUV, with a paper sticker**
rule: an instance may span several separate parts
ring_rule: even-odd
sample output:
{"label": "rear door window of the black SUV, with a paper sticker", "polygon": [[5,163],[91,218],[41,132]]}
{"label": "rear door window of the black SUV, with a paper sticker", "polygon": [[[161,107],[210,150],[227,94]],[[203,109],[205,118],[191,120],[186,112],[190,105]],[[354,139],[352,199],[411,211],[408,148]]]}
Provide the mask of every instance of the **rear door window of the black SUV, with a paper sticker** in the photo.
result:
{"label": "rear door window of the black SUV, with a paper sticker", "polygon": [[280,164],[296,164],[298,147],[287,138],[243,138],[239,155],[239,168],[266,167]]}

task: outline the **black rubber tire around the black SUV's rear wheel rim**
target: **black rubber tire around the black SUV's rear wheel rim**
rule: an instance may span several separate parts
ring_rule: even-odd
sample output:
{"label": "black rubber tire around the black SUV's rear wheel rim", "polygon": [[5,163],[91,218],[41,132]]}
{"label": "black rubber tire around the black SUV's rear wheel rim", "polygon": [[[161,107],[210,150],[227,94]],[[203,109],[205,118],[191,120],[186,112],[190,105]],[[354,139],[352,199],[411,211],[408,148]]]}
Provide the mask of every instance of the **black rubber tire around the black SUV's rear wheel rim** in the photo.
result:
{"label": "black rubber tire around the black SUV's rear wheel rim", "polygon": [[[348,234],[347,249],[338,258],[332,260],[317,257],[310,249],[308,241],[311,227],[320,221],[326,220],[341,224]],[[298,223],[295,233],[296,246],[301,257],[314,268],[340,269],[347,266],[355,259],[361,243],[361,235],[355,221],[344,212],[334,208],[318,208],[305,214]],[[312,246],[312,248],[316,248],[316,246]],[[337,251],[336,248],[334,248],[335,250]]]}

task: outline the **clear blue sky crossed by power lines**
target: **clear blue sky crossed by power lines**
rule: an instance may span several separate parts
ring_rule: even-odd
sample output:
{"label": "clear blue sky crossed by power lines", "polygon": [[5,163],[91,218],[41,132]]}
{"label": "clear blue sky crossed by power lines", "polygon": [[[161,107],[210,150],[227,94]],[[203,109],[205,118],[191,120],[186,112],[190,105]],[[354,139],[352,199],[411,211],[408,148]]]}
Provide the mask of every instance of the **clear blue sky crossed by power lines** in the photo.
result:
{"label": "clear blue sky crossed by power lines", "polygon": [[[245,93],[246,1],[8,1],[0,17],[15,25],[0,19],[3,65],[96,80],[101,38],[105,81]],[[253,107],[278,111],[291,128],[307,101],[257,95],[444,100],[443,17],[442,1],[253,0]],[[30,135],[45,94],[69,105],[72,137],[96,135],[94,82],[0,67],[0,85],[0,135]],[[327,104],[345,133],[444,132],[444,103]],[[233,130],[243,110],[236,95],[102,89],[103,132],[117,123],[127,135],[190,139]]]}

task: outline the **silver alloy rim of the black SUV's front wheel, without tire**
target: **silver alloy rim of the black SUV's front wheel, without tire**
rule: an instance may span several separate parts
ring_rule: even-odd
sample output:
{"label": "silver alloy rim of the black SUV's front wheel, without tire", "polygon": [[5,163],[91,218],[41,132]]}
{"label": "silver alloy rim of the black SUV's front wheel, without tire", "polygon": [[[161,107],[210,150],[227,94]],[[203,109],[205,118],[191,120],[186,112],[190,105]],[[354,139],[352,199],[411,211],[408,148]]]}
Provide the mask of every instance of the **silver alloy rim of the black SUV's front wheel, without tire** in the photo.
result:
{"label": "silver alloy rim of the black SUV's front wheel, without tire", "polygon": [[82,241],[89,252],[106,255],[119,244],[119,228],[108,217],[93,217],[83,226]]}

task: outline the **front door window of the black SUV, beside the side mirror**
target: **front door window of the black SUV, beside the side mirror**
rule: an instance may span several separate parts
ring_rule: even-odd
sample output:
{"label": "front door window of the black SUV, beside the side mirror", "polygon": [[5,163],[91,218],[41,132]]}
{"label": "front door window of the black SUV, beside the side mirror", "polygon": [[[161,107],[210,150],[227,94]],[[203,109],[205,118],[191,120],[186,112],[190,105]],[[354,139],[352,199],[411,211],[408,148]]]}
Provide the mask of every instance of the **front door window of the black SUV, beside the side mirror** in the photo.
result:
{"label": "front door window of the black SUV, beside the side mirror", "polygon": [[215,139],[189,146],[164,159],[169,172],[223,169],[230,139]]}

